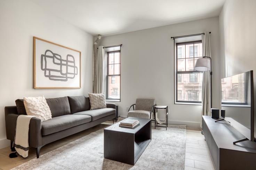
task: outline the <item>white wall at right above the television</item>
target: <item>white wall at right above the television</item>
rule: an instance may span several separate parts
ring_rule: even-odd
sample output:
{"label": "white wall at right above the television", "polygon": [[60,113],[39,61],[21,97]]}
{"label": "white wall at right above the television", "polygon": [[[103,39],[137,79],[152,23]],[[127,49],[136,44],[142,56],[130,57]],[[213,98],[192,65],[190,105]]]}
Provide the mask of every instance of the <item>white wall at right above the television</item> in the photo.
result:
{"label": "white wall at right above the television", "polygon": [[[219,15],[222,77],[254,70],[256,80],[256,1],[226,0]],[[256,86],[255,86],[256,87]]]}

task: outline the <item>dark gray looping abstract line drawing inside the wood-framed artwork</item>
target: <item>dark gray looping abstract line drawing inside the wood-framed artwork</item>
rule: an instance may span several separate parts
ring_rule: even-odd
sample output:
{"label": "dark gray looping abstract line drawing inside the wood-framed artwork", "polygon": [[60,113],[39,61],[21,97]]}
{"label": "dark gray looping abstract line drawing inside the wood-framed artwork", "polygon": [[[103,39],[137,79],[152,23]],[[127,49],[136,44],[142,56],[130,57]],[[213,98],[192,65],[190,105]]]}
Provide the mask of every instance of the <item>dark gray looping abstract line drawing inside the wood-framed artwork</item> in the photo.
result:
{"label": "dark gray looping abstract line drawing inside the wood-framed artwork", "polygon": [[78,74],[78,68],[75,66],[74,56],[67,54],[66,60],[61,55],[46,50],[41,54],[41,70],[44,71],[45,77],[54,81],[67,81],[74,79]]}

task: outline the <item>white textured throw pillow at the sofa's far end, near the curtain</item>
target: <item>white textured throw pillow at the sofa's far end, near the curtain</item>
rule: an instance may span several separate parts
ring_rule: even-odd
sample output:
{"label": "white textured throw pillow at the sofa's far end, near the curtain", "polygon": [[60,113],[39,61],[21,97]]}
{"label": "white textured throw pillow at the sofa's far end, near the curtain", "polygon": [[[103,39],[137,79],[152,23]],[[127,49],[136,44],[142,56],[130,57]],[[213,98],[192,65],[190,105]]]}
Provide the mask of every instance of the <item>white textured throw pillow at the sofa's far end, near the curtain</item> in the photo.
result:
{"label": "white textured throw pillow at the sofa's far end, near the curtain", "polygon": [[94,94],[88,93],[90,98],[91,110],[106,108],[106,101],[104,93]]}

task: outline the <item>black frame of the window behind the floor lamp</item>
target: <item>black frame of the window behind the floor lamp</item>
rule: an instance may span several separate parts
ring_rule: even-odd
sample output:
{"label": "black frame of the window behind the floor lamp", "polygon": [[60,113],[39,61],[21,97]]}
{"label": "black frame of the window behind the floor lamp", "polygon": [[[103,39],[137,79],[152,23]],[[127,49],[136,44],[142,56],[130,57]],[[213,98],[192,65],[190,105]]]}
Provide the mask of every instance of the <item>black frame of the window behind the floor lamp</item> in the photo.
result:
{"label": "black frame of the window behind the floor lamp", "polygon": [[[188,53],[188,57],[186,58],[186,45],[187,44],[193,44],[193,54],[195,53],[194,51],[194,46],[195,44],[197,43],[202,43],[202,40],[199,40],[199,41],[190,41],[190,42],[183,42],[183,43],[176,43],[175,44],[175,56],[174,56],[174,60],[175,60],[175,102],[174,104],[192,104],[192,105],[195,105],[195,104],[198,104],[198,105],[201,105],[202,104],[202,101],[190,101],[190,100],[178,100],[178,74],[190,74],[190,73],[202,73],[200,71],[196,71],[194,70],[191,70],[191,71],[178,71],[178,45],[185,45],[185,58],[179,58],[179,59],[184,59],[185,60],[185,69],[186,69],[186,59],[193,59],[193,64],[195,65],[195,58],[196,59],[199,59],[199,58],[202,58],[202,57],[194,57],[193,55],[193,58],[190,57],[190,54]],[[189,49],[188,49],[189,50]],[[199,53],[199,51],[197,51],[197,53]],[[200,83],[200,81],[199,81]]]}

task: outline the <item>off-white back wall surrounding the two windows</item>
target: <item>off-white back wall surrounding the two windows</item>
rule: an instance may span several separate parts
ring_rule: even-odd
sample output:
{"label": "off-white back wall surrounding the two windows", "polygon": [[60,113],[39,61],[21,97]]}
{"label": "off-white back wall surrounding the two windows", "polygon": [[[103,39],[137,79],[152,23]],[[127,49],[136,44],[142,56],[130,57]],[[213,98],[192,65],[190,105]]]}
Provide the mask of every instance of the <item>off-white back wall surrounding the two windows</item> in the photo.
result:
{"label": "off-white back wall surrounding the two windows", "polygon": [[[171,36],[211,31],[213,60],[213,107],[219,108],[219,34],[218,17],[139,30],[102,38],[101,45],[123,44],[121,47],[121,102],[119,115],[138,97],[155,98],[157,104],[168,105],[169,123],[199,128],[201,105],[174,104],[174,42]],[[160,117],[164,118],[164,116]]]}

